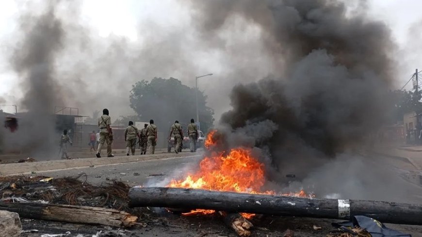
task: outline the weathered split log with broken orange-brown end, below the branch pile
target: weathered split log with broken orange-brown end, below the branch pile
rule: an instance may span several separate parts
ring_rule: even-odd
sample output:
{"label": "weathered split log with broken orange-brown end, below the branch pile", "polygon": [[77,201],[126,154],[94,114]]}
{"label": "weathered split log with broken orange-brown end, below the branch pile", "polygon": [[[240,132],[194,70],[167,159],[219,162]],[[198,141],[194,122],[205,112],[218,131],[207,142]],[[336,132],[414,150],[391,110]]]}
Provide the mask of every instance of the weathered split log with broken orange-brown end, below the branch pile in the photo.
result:
{"label": "weathered split log with broken orange-brown end, below the branch pile", "polygon": [[134,225],[138,219],[136,216],[132,216],[127,212],[114,209],[91,206],[51,205],[30,202],[0,202],[0,210],[16,212],[23,218],[84,224],[101,224],[115,227],[130,227]]}

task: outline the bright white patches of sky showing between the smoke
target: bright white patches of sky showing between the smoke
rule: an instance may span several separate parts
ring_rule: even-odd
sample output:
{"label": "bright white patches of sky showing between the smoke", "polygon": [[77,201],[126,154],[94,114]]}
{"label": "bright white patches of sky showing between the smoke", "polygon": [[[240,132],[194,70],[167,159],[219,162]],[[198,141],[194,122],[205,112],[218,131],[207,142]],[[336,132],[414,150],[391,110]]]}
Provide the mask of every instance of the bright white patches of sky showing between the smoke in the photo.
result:
{"label": "bright white patches of sky showing between the smoke", "polygon": [[[21,3],[21,1],[19,2]],[[145,38],[139,34],[139,28],[142,28],[146,22],[154,22],[164,30],[166,28],[171,30],[178,25],[189,26],[190,24],[189,9],[176,0],[84,0],[82,2],[81,16],[83,22],[89,25],[91,29],[95,29],[98,37],[106,38],[110,35],[117,35],[126,37],[130,42],[142,43]],[[395,76],[397,78],[396,87],[401,88],[415,68],[419,67],[422,70],[422,57],[419,56],[422,50],[417,46],[415,47],[414,44],[410,47],[412,41],[422,42],[421,34],[419,33],[420,29],[417,27],[418,23],[422,21],[422,15],[420,14],[422,1],[368,0],[368,5],[370,16],[382,20],[390,26],[394,40],[400,47],[400,51],[397,53],[399,71],[397,71]],[[18,4],[12,0],[2,1],[0,8],[0,42],[13,40],[11,36],[17,31],[17,16]],[[411,33],[410,29],[412,27],[413,32]],[[22,92],[18,89],[19,82],[16,79],[16,75],[7,63],[8,59],[2,57],[2,55],[6,55],[9,49],[4,44],[0,48],[0,97],[6,100],[1,101],[0,99],[0,104],[18,104],[22,96]],[[216,56],[204,60],[202,56],[199,54],[197,58],[193,58],[199,68],[198,73],[211,72],[218,74],[220,72],[218,68],[219,63],[213,61],[218,61],[220,58]],[[210,70],[205,69],[210,67],[209,65],[212,65]],[[178,76],[178,74],[176,73],[175,76]],[[179,76],[182,77],[184,75],[181,73]],[[189,76],[191,77],[191,75]],[[203,87],[201,89],[205,91],[205,94],[209,92],[207,87],[212,85],[210,80],[201,82]],[[193,83],[193,81],[187,80],[183,82]],[[410,84],[406,87],[407,89],[410,89]],[[209,95],[209,100],[213,99],[213,95]],[[3,109],[5,111],[13,111],[12,108],[3,107]],[[216,114],[219,115],[222,111],[217,109]]]}

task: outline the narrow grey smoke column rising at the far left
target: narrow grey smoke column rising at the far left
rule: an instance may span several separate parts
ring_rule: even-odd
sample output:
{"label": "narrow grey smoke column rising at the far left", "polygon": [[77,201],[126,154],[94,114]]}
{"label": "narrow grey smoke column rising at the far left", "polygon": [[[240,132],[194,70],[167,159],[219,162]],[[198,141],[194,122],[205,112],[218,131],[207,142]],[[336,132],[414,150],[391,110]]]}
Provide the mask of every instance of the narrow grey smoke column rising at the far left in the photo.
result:
{"label": "narrow grey smoke column rising at the far left", "polygon": [[64,31],[55,16],[54,4],[40,16],[25,12],[19,18],[19,26],[24,35],[17,43],[11,62],[22,79],[24,98],[20,109],[27,112],[17,115],[19,129],[8,135],[7,146],[30,152],[32,156],[47,155],[58,147],[53,114],[54,106],[63,105],[63,99],[55,58],[63,47]]}

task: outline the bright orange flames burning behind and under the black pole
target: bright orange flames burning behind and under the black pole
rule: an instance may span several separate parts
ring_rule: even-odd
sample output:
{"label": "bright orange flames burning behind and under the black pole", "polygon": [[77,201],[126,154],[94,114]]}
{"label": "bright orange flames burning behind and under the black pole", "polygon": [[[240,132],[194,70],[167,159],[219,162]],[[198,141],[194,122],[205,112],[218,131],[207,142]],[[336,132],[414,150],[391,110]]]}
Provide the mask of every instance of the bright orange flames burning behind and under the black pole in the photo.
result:
{"label": "bright orange flames burning behind and under the black pole", "polygon": [[[216,131],[211,131],[204,143],[210,151],[216,144]],[[233,148],[228,153],[210,151],[199,164],[195,174],[182,180],[172,180],[170,188],[190,188],[217,191],[232,191],[254,194],[275,194],[274,191],[262,191],[265,182],[264,164],[252,156],[250,148]],[[308,197],[304,190],[298,193],[282,194],[285,196]],[[214,210],[196,209],[184,215],[211,214]],[[242,213],[243,217],[251,218],[255,214]]]}

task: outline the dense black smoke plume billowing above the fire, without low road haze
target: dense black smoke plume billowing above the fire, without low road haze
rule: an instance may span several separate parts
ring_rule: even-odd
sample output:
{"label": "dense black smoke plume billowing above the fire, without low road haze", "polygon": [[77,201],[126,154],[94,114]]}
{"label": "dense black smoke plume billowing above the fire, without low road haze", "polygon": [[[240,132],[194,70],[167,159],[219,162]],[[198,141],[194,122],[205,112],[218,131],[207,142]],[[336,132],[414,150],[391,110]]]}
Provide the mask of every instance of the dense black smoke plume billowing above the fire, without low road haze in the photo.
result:
{"label": "dense black smoke plume billowing above the fire, without low road haze", "polygon": [[205,17],[198,19],[204,38],[212,39],[233,16],[263,29],[267,50],[282,70],[235,86],[233,109],[223,114],[221,123],[236,130],[248,123],[274,122],[277,130],[261,145],[270,147],[277,163],[292,156],[335,156],[361,144],[383,124],[394,48],[383,23],[361,14],[347,16],[344,3],[330,0],[194,4],[205,14],[198,14]]}

